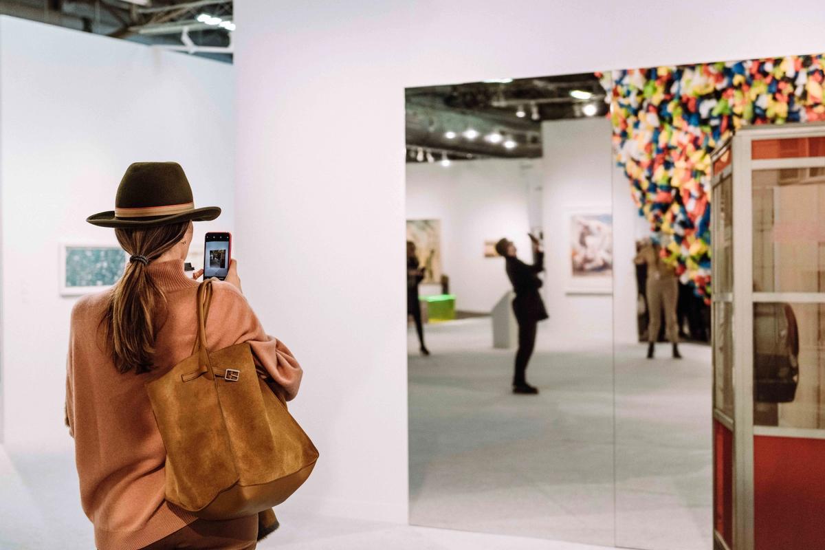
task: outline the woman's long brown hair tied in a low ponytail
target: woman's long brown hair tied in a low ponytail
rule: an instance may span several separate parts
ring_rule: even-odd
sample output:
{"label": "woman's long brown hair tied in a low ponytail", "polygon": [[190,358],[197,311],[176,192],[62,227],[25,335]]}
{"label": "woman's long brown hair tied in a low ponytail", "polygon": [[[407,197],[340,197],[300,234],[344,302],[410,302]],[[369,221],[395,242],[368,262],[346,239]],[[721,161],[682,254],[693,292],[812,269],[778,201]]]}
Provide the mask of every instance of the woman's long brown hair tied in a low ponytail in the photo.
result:
{"label": "woman's long brown hair tied in a low ponytail", "polygon": [[[188,228],[189,222],[147,229],[117,228],[115,236],[130,255],[153,261],[180,242]],[[102,320],[111,359],[120,373],[135,369],[140,374],[152,369],[158,313],[166,299],[146,273],[147,267],[143,262],[130,261],[111,290]]]}

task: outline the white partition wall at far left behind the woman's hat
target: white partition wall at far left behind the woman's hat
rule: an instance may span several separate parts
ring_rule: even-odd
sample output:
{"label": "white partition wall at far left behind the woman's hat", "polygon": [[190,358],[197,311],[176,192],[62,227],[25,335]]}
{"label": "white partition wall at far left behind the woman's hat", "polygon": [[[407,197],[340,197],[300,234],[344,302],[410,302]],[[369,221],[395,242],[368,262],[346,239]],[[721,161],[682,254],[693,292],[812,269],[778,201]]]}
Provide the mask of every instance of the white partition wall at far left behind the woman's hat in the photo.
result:
{"label": "white partition wall at far left behind the woman's hat", "polygon": [[[4,442],[70,444],[69,313],[59,242],[115,244],[86,223],[113,209],[126,167],[177,161],[196,205],[234,229],[233,67],[124,40],[0,17],[0,220]],[[197,247],[197,246],[196,246]]]}

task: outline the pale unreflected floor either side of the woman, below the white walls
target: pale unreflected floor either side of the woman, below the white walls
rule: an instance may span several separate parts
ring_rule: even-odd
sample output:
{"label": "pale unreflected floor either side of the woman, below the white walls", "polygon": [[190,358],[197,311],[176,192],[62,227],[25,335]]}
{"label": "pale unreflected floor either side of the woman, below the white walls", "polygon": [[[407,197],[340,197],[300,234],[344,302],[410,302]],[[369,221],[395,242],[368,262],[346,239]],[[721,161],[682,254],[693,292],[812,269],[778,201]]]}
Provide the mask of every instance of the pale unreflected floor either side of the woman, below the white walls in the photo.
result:
{"label": "pale unreflected floor either side of the woman, below the white walls", "polygon": [[[90,550],[92,524],[82,514],[70,445],[0,446],[0,548]],[[281,529],[257,548],[281,550],[604,550],[535,538],[463,533],[410,525],[301,515],[278,510]]]}

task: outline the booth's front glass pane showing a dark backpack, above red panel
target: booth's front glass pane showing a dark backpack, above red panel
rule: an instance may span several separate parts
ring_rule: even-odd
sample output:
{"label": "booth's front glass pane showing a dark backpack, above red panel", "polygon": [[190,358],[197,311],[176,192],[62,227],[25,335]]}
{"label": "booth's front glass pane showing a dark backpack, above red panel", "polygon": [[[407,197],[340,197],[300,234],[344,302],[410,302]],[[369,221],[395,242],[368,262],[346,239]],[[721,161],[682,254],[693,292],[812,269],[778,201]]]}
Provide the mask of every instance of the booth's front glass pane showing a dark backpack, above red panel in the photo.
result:
{"label": "booth's front glass pane showing a dark backpack, above red panel", "polygon": [[754,422],[825,428],[825,304],[756,303]]}

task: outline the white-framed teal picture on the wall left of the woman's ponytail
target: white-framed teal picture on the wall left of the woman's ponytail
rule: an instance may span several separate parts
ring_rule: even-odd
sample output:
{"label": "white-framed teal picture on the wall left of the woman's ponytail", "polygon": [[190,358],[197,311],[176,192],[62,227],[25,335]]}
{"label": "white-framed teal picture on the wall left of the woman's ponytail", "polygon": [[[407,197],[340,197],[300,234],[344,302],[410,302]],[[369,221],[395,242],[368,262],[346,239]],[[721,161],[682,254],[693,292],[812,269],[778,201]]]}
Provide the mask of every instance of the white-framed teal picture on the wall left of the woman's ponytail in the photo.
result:
{"label": "white-framed teal picture on the wall left of the woman's ponytail", "polygon": [[79,296],[111,288],[120,279],[128,257],[119,246],[60,244],[61,296]]}

